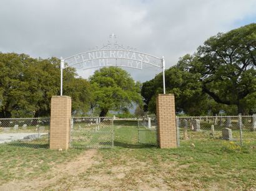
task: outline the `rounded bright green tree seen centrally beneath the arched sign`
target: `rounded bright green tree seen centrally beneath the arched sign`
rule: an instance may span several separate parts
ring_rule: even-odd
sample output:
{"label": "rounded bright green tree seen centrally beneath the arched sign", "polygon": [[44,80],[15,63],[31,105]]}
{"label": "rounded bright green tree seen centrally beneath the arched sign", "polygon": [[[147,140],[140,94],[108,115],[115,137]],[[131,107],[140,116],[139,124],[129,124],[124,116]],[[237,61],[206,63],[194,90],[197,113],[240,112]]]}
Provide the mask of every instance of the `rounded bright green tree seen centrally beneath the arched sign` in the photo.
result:
{"label": "rounded bright green tree seen centrally beneath the arched sign", "polygon": [[90,82],[94,91],[91,105],[100,109],[100,116],[106,116],[109,110],[126,111],[132,108],[132,103],[142,104],[140,83],[135,83],[121,68],[101,68],[92,75]]}

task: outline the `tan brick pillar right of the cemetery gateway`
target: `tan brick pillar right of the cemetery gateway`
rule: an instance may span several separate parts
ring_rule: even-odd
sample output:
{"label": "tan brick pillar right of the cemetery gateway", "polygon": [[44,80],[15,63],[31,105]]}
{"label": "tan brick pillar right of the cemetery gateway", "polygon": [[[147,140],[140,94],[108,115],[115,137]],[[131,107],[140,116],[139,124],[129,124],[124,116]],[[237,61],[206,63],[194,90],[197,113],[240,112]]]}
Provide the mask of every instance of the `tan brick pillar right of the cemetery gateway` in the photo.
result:
{"label": "tan brick pillar right of the cemetery gateway", "polygon": [[177,147],[174,95],[159,94],[156,104],[158,145],[160,148]]}

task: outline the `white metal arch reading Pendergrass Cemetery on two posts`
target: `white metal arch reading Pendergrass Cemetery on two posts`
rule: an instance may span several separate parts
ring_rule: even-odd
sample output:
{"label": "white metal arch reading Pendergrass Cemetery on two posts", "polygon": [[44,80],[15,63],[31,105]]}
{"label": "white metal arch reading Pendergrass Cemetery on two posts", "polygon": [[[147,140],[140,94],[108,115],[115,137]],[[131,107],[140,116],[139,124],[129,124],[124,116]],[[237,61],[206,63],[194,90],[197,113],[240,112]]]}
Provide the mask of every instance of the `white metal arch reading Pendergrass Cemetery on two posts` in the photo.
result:
{"label": "white metal arch reading Pendergrass Cemetery on two posts", "polygon": [[163,86],[165,94],[165,60],[164,57],[159,58],[153,55],[138,52],[130,47],[124,47],[116,42],[116,35],[110,35],[111,40],[107,45],[94,50],[88,50],[81,54],[61,59],[61,96],[62,96],[62,70],[67,67],[87,70],[96,67],[128,67],[142,70],[145,65],[162,68]]}

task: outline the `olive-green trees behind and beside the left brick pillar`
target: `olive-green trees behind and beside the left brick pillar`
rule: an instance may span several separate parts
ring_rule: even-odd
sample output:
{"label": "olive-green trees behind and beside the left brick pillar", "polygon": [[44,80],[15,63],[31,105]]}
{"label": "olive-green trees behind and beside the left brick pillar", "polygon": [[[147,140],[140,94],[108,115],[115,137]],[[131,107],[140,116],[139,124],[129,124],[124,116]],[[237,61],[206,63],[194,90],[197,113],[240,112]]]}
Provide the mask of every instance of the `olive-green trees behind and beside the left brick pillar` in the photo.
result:
{"label": "olive-green trees behind and beside the left brick pillar", "polygon": [[[60,60],[35,59],[25,54],[0,53],[0,117],[49,116],[50,101],[59,95]],[[64,70],[64,95],[72,97],[72,111],[87,111],[89,83],[75,78],[72,68]]]}

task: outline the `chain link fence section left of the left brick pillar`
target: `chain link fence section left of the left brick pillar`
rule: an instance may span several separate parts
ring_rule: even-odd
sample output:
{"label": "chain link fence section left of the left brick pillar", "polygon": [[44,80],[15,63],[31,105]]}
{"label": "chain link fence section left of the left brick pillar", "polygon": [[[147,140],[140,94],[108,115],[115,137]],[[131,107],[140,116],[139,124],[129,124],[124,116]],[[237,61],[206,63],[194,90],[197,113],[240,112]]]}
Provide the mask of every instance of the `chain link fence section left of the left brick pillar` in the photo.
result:
{"label": "chain link fence section left of the left brick pillar", "polygon": [[0,119],[0,147],[49,147],[50,118]]}

